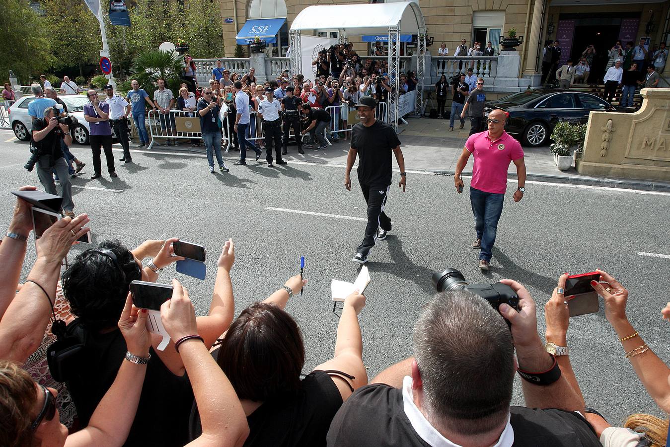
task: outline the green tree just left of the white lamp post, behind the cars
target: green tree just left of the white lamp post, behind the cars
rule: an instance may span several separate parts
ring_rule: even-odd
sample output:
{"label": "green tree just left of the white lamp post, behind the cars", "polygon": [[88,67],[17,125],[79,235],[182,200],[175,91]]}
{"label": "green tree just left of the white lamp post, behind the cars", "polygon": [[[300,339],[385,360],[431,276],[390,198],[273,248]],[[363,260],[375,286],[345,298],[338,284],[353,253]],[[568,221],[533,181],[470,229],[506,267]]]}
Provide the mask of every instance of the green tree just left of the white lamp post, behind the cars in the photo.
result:
{"label": "green tree just left of the white lamp post, behind the cars", "polygon": [[48,26],[38,34],[51,36],[54,68],[79,66],[84,76],[84,65],[95,64],[103,48],[98,19],[82,0],[42,0],[42,9]]}

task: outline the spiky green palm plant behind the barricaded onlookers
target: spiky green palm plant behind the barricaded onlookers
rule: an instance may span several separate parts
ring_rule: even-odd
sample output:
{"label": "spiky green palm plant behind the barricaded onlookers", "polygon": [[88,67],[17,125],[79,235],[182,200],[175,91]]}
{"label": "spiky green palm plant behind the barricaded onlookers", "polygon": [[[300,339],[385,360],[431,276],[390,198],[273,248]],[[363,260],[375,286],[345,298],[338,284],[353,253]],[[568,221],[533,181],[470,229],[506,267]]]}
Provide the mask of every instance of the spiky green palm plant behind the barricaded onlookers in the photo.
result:
{"label": "spiky green palm plant behind the barricaded onlookers", "polygon": [[[147,50],[137,53],[130,64],[131,79],[139,82],[139,88],[153,92],[158,88],[157,80],[165,80],[165,88],[170,88],[174,97],[178,96],[179,85],[182,82],[184,59],[176,52],[162,50]],[[123,82],[119,89],[129,90],[130,82]],[[149,93],[151,94],[151,93]]]}

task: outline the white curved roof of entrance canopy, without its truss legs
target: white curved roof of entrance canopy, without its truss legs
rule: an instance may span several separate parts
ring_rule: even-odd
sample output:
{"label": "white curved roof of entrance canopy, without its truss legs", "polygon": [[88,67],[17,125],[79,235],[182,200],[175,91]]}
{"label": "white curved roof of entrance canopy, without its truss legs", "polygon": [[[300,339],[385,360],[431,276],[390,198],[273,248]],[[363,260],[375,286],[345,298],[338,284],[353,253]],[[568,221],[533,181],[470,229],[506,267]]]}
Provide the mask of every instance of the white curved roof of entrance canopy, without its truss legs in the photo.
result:
{"label": "white curved roof of entrance canopy, without its truss legs", "polygon": [[291,23],[291,31],[338,31],[348,36],[388,34],[389,26],[400,25],[402,34],[418,34],[425,27],[419,5],[398,3],[358,3],[355,5],[316,5],[303,9]]}

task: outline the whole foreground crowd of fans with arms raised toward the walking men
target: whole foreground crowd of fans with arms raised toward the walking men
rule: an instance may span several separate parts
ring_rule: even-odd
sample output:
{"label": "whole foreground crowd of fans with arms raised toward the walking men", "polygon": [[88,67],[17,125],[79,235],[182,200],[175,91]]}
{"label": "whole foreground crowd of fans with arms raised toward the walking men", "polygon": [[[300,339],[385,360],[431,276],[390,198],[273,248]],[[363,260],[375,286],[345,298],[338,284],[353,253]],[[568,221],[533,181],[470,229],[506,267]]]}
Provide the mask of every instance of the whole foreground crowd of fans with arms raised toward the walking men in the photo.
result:
{"label": "whole foreground crowd of fans with arms raised toward the walking men", "polygon": [[[134,306],[129,284],[157,281],[184,259],[174,254],[178,239],[133,250],[106,241],[62,267],[89,220],[65,217],[36,240],[36,261],[21,284],[30,206],[17,199],[0,244],[2,446],[665,445],[667,420],[634,414],[612,427],[586,407],[567,348],[547,353],[535,302],[516,281],[501,281],[519,296],[516,310],[465,290],[426,297],[413,357],[372,381],[358,324],[366,298],[354,291],[333,355],[305,375],[305,341],[285,311],[307,283],[301,275],[235,318],[228,239],[206,315],[196,317],[188,291],[172,279],[172,298],[160,308],[170,344],[160,350],[161,337],[147,332],[151,311]],[[592,285],[606,318],[667,412],[670,369],[628,320],[628,291],[600,274]],[[545,338],[559,346],[568,345],[566,278],[545,305]],[[662,314],[670,318],[670,303]],[[525,407],[511,405],[517,371]]]}

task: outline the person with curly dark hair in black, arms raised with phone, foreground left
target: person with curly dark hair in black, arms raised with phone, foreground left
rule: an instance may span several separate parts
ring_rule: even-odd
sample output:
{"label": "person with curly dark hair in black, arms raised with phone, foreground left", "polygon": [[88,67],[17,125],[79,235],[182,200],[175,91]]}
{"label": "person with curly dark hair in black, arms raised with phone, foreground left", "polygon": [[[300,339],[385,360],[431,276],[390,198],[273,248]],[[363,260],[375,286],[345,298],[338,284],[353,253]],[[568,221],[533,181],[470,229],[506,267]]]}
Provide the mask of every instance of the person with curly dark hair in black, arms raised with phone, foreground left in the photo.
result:
{"label": "person with curly dark hair in black, arms raised with phone, foreground left", "polygon": [[[132,252],[119,241],[106,241],[78,255],[63,273],[64,296],[78,317],[68,324],[66,332],[84,344],[83,358],[72,368],[75,373],[66,377],[82,426],[88,424],[113,383],[127,350],[116,322],[129,283],[135,279],[155,282],[163,268],[184,259],[174,256],[172,244],[176,241],[147,241],[144,248]],[[153,257],[153,261],[142,267],[145,257]],[[234,261],[235,246],[228,240],[218,260],[209,314],[198,318],[198,334],[207,348],[232,322],[235,305],[229,272]],[[130,432],[133,445],[183,446],[188,440],[184,421],[188,421],[193,391],[174,340],[159,348],[161,340],[151,334],[147,377]]]}

